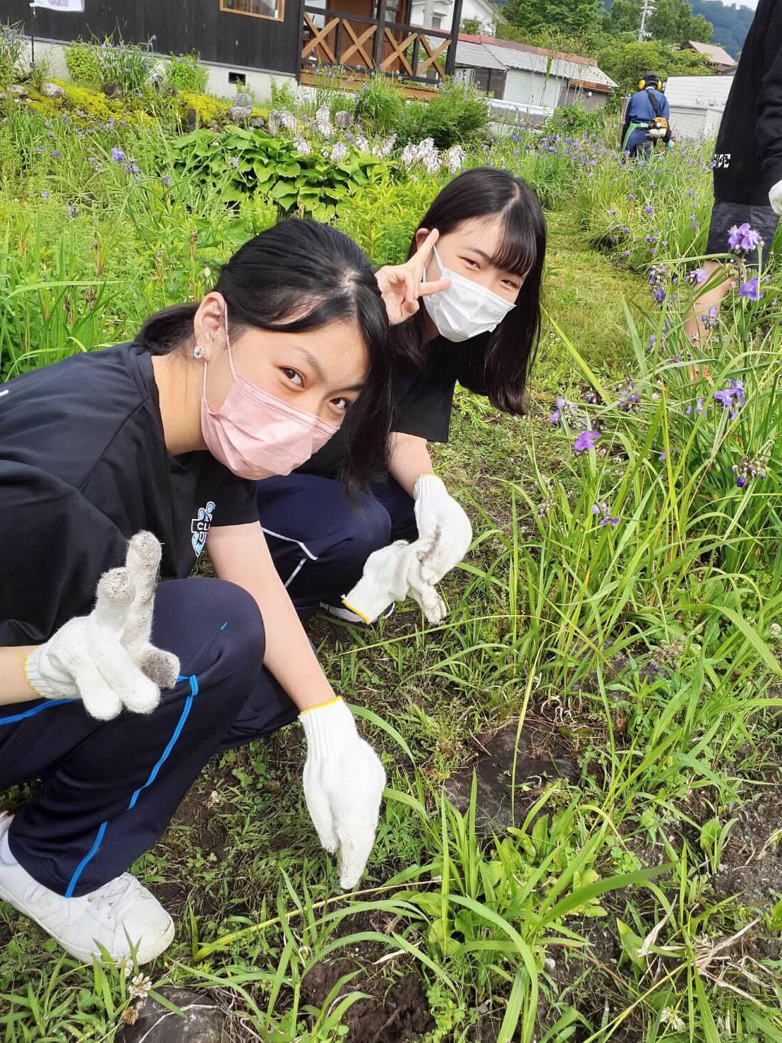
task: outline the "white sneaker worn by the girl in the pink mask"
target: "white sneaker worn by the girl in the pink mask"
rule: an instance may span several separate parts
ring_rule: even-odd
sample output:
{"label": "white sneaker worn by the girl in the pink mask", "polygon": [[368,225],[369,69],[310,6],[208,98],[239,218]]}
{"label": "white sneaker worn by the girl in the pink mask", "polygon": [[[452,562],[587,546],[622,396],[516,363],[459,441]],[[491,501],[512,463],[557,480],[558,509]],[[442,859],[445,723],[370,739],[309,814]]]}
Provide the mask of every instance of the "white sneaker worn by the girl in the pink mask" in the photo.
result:
{"label": "white sneaker worn by the girl in the pink mask", "polygon": [[[0,838],[13,818],[0,819]],[[174,939],[173,920],[130,873],[81,898],[64,898],[39,883],[19,863],[0,863],[0,900],[34,920],[80,963],[90,963],[93,955],[100,957],[96,942],[116,961],[129,957],[129,938],[137,946],[137,962],[146,964]]]}

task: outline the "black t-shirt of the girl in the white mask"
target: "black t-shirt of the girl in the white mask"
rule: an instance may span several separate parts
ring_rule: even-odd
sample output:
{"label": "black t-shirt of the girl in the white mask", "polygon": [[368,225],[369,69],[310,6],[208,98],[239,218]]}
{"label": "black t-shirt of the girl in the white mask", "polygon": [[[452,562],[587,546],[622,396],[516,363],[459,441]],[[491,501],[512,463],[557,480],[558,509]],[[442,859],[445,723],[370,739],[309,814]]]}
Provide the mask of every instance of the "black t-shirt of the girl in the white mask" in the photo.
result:
{"label": "black t-shirt of the girl in the white mask", "polygon": [[[471,391],[486,394],[482,371],[489,335],[455,344],[437,337],[425,347],[425,361],[416,366],[409,360],[394,365],[394,419],[391,430],[417,435],[430,442],[446,442],[457,381]],[[299,471],[335,478],[345,455],[342,429],[328,439]]]}

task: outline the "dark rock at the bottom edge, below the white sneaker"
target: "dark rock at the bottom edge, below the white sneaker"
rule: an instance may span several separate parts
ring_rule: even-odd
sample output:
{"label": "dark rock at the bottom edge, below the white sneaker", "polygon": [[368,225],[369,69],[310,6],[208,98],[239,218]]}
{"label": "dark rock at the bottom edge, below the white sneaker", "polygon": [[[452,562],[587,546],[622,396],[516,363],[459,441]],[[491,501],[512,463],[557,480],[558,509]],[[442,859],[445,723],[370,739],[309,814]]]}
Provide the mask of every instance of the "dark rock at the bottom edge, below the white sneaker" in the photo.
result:
{"label": "dark rock at the bottom edge, below the white sneaker", "polygon": [[136,1022],[120,1032],[118,1043],[222,1043],[227,1018],[211,996],[169,986],[157,991],[185,1017],[147,996]]}

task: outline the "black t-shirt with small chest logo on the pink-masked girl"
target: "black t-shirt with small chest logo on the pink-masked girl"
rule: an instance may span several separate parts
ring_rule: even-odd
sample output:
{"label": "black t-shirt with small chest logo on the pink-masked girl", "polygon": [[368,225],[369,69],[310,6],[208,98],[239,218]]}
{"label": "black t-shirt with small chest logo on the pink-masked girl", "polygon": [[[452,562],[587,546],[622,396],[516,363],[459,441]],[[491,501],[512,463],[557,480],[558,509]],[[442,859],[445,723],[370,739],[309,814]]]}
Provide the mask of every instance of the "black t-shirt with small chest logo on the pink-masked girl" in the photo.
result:
{"label": "black t-shirt with small chest logo on the pink-masked girl", "polygon": [[139,344],[76,355],[0,390],[0,646],[39,644],[89,612],[101,574],[142,529],[163,543],[162,577],[181,579],[210,525],[258,520],[254,482],[210,453],[168,453]]}

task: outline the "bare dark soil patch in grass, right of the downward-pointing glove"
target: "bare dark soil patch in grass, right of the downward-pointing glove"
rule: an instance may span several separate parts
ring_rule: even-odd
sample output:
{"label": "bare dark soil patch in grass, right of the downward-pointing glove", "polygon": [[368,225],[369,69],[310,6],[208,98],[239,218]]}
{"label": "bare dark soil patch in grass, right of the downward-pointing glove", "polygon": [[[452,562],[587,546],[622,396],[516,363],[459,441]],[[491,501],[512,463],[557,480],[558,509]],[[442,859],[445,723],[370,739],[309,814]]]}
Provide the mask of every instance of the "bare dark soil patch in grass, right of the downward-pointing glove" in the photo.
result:
{"label": "bare dark soil patch in grass, right of the downward-pointing glove", "polygon": [[445,782],[448,799],[464,812],[475,773],[475,827],[482,832],[502,831],[523,822],[546,781],[563,778],[575,782],[579,778],[578,765],[567,756],[570,744],[558,734],[553,722],[530,713],[518,736],[517,732],[515,720],[498,731],[475,735],[478,759],[454,772]]}

